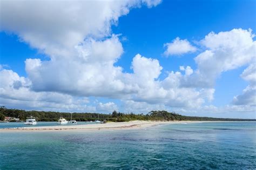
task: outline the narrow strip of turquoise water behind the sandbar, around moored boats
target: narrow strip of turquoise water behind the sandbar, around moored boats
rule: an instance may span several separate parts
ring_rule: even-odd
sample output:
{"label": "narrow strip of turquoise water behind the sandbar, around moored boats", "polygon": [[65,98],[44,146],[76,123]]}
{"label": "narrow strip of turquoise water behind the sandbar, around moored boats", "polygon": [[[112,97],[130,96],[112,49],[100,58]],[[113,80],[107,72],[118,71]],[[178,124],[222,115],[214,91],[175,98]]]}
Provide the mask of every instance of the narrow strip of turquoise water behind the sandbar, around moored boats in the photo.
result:
{"label": "narrow strip of turquoise water behind the sandbar, around moored boats", "polygon": [[[89,121],[77,121],[77,125],[96,124],[95,122]],[[57,124],[57,121],[38,121],[36,125],[24,125],[24,122],[10,122],[0,123],[0,128],[13,128],[13,127],[32,127],[32,126],[66,126],[73,124]],[[76,126],[76,125],[74,125]]]}

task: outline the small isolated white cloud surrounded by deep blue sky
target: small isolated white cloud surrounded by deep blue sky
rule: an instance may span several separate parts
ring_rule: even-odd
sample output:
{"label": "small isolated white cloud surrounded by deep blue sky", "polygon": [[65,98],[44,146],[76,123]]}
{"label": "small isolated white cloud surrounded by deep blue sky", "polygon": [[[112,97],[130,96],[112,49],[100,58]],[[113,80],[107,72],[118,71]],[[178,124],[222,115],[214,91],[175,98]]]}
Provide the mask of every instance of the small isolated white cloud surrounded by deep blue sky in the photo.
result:
{"label": "small isolated white cloud surrounded by deep blue sky", "polygon": [[177,37],[172,43],[166,43],[164,46],[167,48],[164,52],[165,56],[183,55],[188,52],[195,52],[197,48],[192,46],[187,39],[180,39]]}

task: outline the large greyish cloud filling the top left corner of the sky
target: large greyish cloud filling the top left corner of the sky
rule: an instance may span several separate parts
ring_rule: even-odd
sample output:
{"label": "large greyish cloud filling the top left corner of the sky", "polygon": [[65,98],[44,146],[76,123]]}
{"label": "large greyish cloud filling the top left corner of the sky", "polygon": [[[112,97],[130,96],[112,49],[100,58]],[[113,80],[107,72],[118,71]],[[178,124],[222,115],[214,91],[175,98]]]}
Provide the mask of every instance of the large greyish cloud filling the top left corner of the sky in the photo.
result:
{"label": "large greyish cloud filling the top left corner of the sky", "polygon": [[111,25],[143,1],[1,1],[1,30],[16,33],[22,41],[51,57],[76,57],[73,52],[87,38],[105,38]]}

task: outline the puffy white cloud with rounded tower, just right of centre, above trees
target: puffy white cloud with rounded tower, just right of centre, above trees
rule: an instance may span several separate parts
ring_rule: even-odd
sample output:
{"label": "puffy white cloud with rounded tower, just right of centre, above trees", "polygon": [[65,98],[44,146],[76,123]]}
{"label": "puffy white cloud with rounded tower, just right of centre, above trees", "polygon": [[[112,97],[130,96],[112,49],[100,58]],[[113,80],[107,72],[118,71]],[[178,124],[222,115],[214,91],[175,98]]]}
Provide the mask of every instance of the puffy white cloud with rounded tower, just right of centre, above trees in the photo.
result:
{"label": "puffy white cloud with rounded tower, just right of centre, above trees", "polygon": [[[134,73],[129,74],[124,82],[126,85],[131,84],[136,90],[129,98],[134,101],[165,104],[166,106],[198,107],[205,102],[205,99],[212,98],[208,97],[209,93],[205,93],[206,90],[180,87],[179,77],[183,76],[180,72],[176,73],[177,77],[171,72],[169,77],[162,81],[158,80],[163,68],[156,59],[136,55],[133,58],[132,69]],[[187,66],[185,76],[191,73],[191,67]]]}

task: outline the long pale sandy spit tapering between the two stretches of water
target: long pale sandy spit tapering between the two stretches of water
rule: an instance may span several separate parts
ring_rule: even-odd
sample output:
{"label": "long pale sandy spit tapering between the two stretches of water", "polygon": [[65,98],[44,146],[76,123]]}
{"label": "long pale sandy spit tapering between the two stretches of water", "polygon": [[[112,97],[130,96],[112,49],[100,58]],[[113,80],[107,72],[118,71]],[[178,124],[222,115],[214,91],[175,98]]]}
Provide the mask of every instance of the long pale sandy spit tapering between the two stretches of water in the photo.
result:
{"label": "long pale sandy spit tapering between the two stretches of water", "polygon": [[98,131],[98,130],[130,130],[152,127],[163,124],[184,123],[211,123],[233,121],[129,121],[119,123],[91,124],[91,125],[66,125],[66,126],[33,126],[21,128],[3,128],[0,132],[60,132],[60,131]]}

